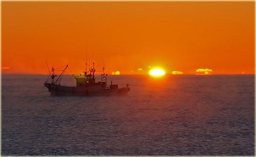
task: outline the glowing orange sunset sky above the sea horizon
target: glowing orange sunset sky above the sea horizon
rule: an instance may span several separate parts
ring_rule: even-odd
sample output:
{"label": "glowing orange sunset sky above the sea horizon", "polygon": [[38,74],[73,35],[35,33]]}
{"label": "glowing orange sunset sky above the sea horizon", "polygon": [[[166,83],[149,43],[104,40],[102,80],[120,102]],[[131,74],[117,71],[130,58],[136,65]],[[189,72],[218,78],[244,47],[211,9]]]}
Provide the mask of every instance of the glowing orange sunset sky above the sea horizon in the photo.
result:
{"label": "glowing orange sunset sky above the sea horizon", "polygon": [[2,2],[2,73],[80,73],[86,42],[109,74],[252,74],[254,2]]}

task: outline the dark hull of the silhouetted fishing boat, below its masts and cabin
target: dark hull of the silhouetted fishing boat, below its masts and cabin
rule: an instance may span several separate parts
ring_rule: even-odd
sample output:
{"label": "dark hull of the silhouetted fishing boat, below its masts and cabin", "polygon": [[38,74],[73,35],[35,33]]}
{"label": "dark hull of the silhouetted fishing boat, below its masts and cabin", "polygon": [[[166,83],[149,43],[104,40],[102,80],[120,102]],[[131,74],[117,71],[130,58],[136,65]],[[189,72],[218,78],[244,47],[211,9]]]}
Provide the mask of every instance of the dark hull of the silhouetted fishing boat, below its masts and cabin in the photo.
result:
{"label": "dark hull of the silhouetted fishing boat, below its masts and cabin", "polygon": [[130,91],[129,87],[119,89],[105,89],[104,87],[95,86],[82,86],[70,87],[60,86],[50,83],[45,83],[51,95],[77,95],[77,96],[110,96],[110,95],[127,95]]}

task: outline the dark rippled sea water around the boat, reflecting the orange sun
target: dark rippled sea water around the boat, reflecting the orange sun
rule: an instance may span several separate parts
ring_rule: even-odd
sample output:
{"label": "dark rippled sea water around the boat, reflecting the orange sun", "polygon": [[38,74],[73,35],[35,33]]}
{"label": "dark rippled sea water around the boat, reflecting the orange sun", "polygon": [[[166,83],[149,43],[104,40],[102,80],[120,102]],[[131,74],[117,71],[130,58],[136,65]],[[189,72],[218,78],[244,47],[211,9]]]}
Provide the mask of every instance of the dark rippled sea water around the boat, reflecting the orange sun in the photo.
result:
{"label": "dark rippled sea water around the boat, reflecting the orange sun", "polygon": [[94,97],[46,79],[2,75],[2,155],[254,155],[254,75],[109,76],[131,91]]}

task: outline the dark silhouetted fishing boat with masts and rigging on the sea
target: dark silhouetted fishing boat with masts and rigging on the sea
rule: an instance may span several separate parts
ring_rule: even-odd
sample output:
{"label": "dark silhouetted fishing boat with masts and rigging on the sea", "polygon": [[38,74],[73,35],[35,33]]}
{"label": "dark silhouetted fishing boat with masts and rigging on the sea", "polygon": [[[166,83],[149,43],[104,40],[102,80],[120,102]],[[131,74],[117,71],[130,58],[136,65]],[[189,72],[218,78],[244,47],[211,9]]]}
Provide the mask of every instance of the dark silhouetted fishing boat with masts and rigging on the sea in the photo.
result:
{"label": "dark silhouetted fishing boat with masts and rigging on the sea", "polygon": [[83,71],[83,76],[81,74],[80,76],[74,76],[72,74],[76,80],[76,86],[61,86],[60,81],[67,68],[68,65],[61,70],[62,72],[58,77],[54,72],[54,67],[52,67],[51,71],[49,70],[49,76],[44,85],[48,88],[51,95],[110,96],[127,95],[127,93],[130,91],[129,84],[126,84],[126,86],[123,88],[118,88],[118,85],[112,84],[111,81],[111,85],[108,86],[106,82],[106,77],[108,74],[104,73],[104,67],[102,70],[103,73],[101,74],[101,81],[96,82],[94,76],[94,73],[96,72],[94,63],[92,68],[87,69],[86,67],[86,70]]}

